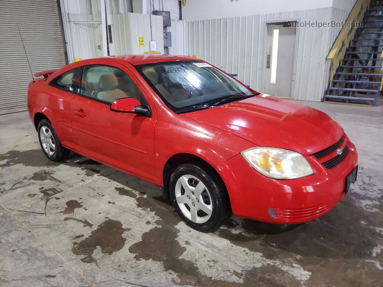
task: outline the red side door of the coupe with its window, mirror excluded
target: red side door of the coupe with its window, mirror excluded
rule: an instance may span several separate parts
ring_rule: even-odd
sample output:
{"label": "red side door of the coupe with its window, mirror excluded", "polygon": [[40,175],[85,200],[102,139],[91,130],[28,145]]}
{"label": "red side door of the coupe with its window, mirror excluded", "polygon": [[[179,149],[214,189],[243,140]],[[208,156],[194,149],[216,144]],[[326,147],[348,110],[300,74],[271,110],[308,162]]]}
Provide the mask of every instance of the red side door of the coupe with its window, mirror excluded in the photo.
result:
{"label": "red side door of the coupe with its window, mirror excluded", "polygon": [[[119,98],[147,104],[151,117],[111,111]],[[123,65],[99,61],[83,67],[80,95],[70,101],[79,153],[149,181],[154,176],[154,104],[134,74]]]}

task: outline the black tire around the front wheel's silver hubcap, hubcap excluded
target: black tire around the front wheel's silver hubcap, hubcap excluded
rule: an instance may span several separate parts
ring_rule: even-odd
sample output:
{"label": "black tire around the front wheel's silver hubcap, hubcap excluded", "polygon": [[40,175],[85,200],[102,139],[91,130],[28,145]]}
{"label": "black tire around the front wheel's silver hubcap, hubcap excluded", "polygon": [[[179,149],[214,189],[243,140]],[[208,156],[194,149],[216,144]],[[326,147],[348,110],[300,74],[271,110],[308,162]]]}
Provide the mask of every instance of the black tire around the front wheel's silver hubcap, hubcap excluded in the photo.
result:
{"label": "black tire around the front wheel's silver hubcap, hubcap excluded", "polygon": [[[180,209],[175,195],[175,188],[178,179],[183,175],[191,175],[201,181],[208,190],[212,203],[212,213],[210,219],[205,223],[196,223],[188,219]],[[170,199],[173,207],[177,211],[182,220],[191,228],[200,232],[213,232],[219,228],[230,215],[230,203],[226,188],[222,180],[207,168],[201,168],[198,165],[187,163],[178,166],[170,176]]]}

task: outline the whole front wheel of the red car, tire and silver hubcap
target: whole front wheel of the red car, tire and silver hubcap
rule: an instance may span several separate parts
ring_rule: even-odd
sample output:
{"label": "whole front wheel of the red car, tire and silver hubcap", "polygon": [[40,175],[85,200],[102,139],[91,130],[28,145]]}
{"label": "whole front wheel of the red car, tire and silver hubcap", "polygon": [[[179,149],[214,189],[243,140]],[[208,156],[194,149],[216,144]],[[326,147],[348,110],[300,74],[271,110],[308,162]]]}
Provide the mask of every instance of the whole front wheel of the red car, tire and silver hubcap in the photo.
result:
{"label": "whole front wheel of the red car, tire and silver hubcap", "polygon": [[178,166],[170,176],[170,198],[187,225],[212,232],[229,215],[229,201],[216,174],[194,164]]}

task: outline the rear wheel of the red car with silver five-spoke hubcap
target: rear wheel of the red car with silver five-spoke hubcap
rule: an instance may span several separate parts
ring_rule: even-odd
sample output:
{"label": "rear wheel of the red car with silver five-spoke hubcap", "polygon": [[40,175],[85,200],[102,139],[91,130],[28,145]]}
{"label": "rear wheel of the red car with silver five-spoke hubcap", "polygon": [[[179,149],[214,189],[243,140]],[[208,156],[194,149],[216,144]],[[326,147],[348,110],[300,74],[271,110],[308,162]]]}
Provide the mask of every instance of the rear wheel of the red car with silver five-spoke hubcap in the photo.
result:
{"label": "rear wheel of the red car with silver five-spoke hubcap", "polygon": [[41,149],[49,160],[59,161],[68,157],[69,150],[62,147],[51,122],[42,119],[37,130]]}

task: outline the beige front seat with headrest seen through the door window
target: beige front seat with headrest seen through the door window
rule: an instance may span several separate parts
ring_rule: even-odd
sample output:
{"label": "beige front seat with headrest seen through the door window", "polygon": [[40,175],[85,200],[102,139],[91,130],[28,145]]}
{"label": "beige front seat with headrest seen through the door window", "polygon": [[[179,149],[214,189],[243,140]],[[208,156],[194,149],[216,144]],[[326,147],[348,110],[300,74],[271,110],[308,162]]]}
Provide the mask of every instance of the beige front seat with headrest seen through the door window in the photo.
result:
{"label": "beige front seat with headrest seen through the door window", "polygon": [[118,80],[113,74],[105,74],[100,77],[96,98],[102,101],[113,103],[116,99],[126,98],[127,95],[117,88]]}

